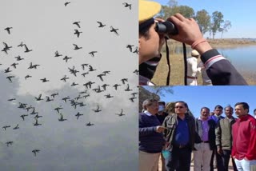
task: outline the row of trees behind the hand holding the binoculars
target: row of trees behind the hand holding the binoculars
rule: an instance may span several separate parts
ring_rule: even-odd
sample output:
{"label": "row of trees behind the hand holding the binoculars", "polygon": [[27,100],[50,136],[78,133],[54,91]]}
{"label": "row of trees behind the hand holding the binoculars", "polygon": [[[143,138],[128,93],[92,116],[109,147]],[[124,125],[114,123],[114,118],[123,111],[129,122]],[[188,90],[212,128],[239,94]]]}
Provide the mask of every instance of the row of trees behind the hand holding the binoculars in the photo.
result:
{"label": "row of trees behind the hand holding the binoculars", "polygon": [[210,15],[206,10],[199,10],[195,13],[190,6],[178,6],[176,0],[170,0],[168,6],[162,6],[162,10],[157,17],[167,19],[176,13],[180,13],[186,18],[194,18],[198,25],[201,26],[202,34],[208,32],[210,38],[212,36],[213,39],[217,33],[221,33],[223,36],[224,32],[231,28],[231,22],[223,19],[222,12],[214,11]]}

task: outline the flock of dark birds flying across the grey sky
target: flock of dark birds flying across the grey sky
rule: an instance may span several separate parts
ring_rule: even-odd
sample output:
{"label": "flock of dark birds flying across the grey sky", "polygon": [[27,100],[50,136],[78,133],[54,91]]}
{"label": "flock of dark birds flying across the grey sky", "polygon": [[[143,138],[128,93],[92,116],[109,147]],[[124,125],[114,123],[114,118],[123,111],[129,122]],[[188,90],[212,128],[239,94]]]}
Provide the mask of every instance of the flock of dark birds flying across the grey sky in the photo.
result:
{"label": "flock of dark birds flying across the grey sky", "polygon": [[[68,6],[70,4],[70,2],[65,2],[65,6]],[[128,4],[126,2],[122,3],[124,5],[124,7],[127,7],[131,10],[131,4]],[[102,22],[97,22],[98,23],[98,28],[103,28],[106,26],[106,24],[103,24]],[[74,35],[77,38],[80,38],[82,31],[79,30],[81,29],[80,26],[80,22],[73,22],[73,25],[76,26],[77,28],[74,30]],[[13,27],[6,27],[4,30],[6,30],[7,34],[11,34],[12,30],[14,28]],[[118,29],[114,28],[113,26],[110,26],[110,32],[113,32],[116,35],[118,34]],[[2,48],[2,52],[6,55],[8,55],[9,51],[12,50],[14,47],[10,46],[9,43],[6,42],[2,42],[4,47]],[[78,46],[77,44],[73,44],[74,46],[74,50],[81,50],[82,47]],[[18,48],[24,48],[24,53],[30,53],[31,51],[33,51],[32,49],[29,48],[29,46],[27,46],[25,43],[21,42],[18,46]],[[126,45],[126,48],[128,50],[130,50],[131,53],[134,54],[138,54],[138,47],[135,47],[134,45]],[[90,51],[88,54],[90,54],[90,56],[92,58],[97,58],[97,53],[98,51],[93,50]],[[63,57],[63,58],[62,58]],[[58,52],[58,50],[55,51],[54,53],[54,58],[62,58],[63,61],[65,61],[66,63],[70,62],[70,57],[68,57],[67,55],[63,55],[60,54]],[[17,57],[14,57],[15,61],[14,63],[12,63],[10,66],[7,66],[6,69],[3,69],[4,74],[9,74],[6,75],[6,79],[12,83],[13,79],[15,78],[15,75],[12,74],[13,70],[16,70],[18,68],[19,62],[22,62],[23,60],[26,61],[25,58],[22,58],[20,55],[18,55]],[[0,66],[3,66],[2,63],[0,63]],[[38,67],[40,67],[39,64],[34,64],[33,62],[30,62],[29,66],[26,68],[27,70],[37,70]],[[1,69],[1,68],[0,68]],[[70,72],[70,76],[68,76],[68,74],[65,74],[62,78],[59,78],[60,82],[67,82],[67,80],[72,79],[71,77],[78,77],[79,75],[82,76],[82,78],[86,78],[86,75],[90,75],[90,73],[94,72],[94,71],[98,71],[98,69],[96,69],[94,66],[91,66],[89,63],[82,63],[81,64],[81,68],[79,69],[78,66],[72,66],[72,67],[68,67],[67,70]],[[134,70],[133,71],[134,74],[138,75],[138,70]],[[79,75],[78,75],[79,74]],[[98,81],[104,84],[98,84],[99,82],[86,82],[83,84],[84,86],[84,90],[79,92],[75,97],[71,98],[70,96],[66,96],[66,97],[61,97],[62,94],[60,93],[52,93],[50,95],[46,95],[45,97],[43,97],[42,93],[38,94],[38,97],[34,97],[34,101],[45,101],[45,102],[50,102],[50,101],[62,101],[65,104],[70,104],[70,106],[74,107],[74,109],[77,109],[77,107],[83,107],[86,106],[87,104],[84,102],[86,98],[90,97],[92,94],[92,97],[94,96],[93,93],[102,93],[102,92],[107,92],[108,87],[112,86],[112,89],[115,89],[116,91],[121,91],[121,87],[122,86],[126,86],[126,89],[123,89],[125,92],[131,92],[134,91],[133,89],[130,89],[130,85],[128,83],[128,78],[122,78],[120,79],[120,81],[118,81],[118,83],[115,83],[114,85],[110,85],[107,84],[104,79],[105,77],[107,77],[108,75],[111,74],[110,70],[105,70],[102,71],[100,74],[97,75],[98,77]],[[81,77],[80,76],[80,77]],[[32,74],[27,74],[24,78],[26,80],[26,82],[28,82],[29,78],[32,78],[33,75]],[[46,83],[46,82],[50,82],[49,78],[39,78],[40,81],[42,83]],[[98,84],[95,87],[93,87],[92,85],[94,84]],[[72,82],[72,84],[70,86],[78,86],[79,84],[76,82]],[[120,88],[118,88],[120,86]],[[137,86],[138,87],[138,86]],[[138,90],[138,89],[136,89]],[[132,92],[130,93],[131,97],[129,97],[129,100],[131,102],[134,102],[134,99],[136,99],[136,95],[138,93],[137,92]],[[104,94],[102,97],[105,98],[113,98],[114,96],[111,95],[110,93],[106,93]],[[22,109],[22,111],[26,111],[26,113],[23,113],[22,115],[20,115],[19,117],[21,117],[21,121],[26,121],[26,117],[34,117],[34,126],[40,126],[42,125],[42,123],[40,123],[39,118],[44,117],[43,115],[39,115],[39,111],[38,109],[36,109],[36,107],[34,107],[33,105],[29,105],[26,102],[20,102],[17,99],[18,97],[11,97],[9,99],[7,99],[7,101],[12,102],[12,104],[18,104],[17,108],[18,109]],[[56,113],[59,114],[58,117],[58,121],[67,121],[67,119],[63,116],[62,111],[64,110],[64,107],[62,105],[58,105],[56,108],[54,108],[54,111],[56,111]],[[100,107],[99,104],[97,104],[97,106],[95,106],[94,109],[91,109],[94,113],[100,113],[102,112],[102,108]],[[123,113],[123,109],[121,109],[121,111],[119,113],[114,113],[115,115],[122,117],[125,116],[126,114]],[[74,117],[76,117],[76,119],[78,120],[80,117],[82,117],[82,113],[78,112],[74,114]],[[91,123],[90,121],[86,123],[86,126],[92,126],[94,125],[94,123]],[[3,125],[2,129],[4,131],[8,130],[11,126],[10,125]],[[13,129],[20,129],[19,124],[15,125],[13,127]],[[6,146],[10,146],[14,143],[14,141],[6,141]],[[40,149],[33,149],[32,153],[34,154],[34,156],[37,156],[37,153],[40,152]]]}

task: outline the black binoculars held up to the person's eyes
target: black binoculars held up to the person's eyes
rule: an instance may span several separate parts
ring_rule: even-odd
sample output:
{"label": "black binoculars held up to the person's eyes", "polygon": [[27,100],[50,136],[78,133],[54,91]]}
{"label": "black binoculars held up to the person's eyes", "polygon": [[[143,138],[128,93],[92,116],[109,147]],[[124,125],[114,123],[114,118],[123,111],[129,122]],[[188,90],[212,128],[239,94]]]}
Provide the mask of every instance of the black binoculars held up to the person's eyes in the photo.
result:
{"label": "black binoculars held up to the person's eyes", "polygon": [[178,29],[172,22],[156,22],[155,31],[158,34],[171,34],[175,35],[178,34]]}

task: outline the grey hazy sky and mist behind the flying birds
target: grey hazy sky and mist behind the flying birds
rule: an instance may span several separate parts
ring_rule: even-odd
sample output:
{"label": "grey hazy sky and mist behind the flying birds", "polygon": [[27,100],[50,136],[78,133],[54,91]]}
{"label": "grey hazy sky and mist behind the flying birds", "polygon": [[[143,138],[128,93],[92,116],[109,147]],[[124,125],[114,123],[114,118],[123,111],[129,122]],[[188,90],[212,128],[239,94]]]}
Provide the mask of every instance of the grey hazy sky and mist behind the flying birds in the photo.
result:
{"label": "grey hazy sky and mist behind the flying birds", "polygon": [[[138,167],[138,5],[131,10],[119,0],[110,1],[5,1],[0,6],[0,165],[1,170],[135,170]],[[80,28],[73,22],[79,22]],[[98,27],[98,22],[106,25]],[[118,34],[110,32],[111,26]],[[5,30],[12,27],[10,34]],[[79,38],[74,30],[82,32]],[[135,34],[136,33],[136,34]],[[25,53],[26,44],[29,50]],[[74,50],[74,45],[82,49]],[[133,45],[132,51],[126,45]],[[62,56],[54,57],[58,50]],[[89,53],[97,51],[92,57]],[[17,61],[20,56],[24,58]],[[63,58],[70,59],[65,62]],[[28,69],[30,63],[39,65]],[[14,63],[18,63],[16,68]],[[82,64],[88,64],[82,69]],[[89,65],[95,70],[89,71]],[[6,73],[9,68],[10,72]],[[70,69],[78,71],[77,76]],[[98,77],[103,71],[110,74]],[[87,73],[85,77],[81,74]],[[26,75],[32,76],[26,78]],[[66,82],[60,79],[66,75]],[[10,80],[7,79],[7,77]],[[42,82],[46,78],[49,82]],[[128,82],[122,82],[127,78]],[[72,85],[72,83],[78,85]],[[86,88],[86,82],[95,82]],[[102,85],[106,84],[106,90]],[[118,84],[118,89],[113,85]],[[71,86],[72,85],[72,86]],[[101,91],[95,92],[93,89]],[[127,87],[129,86],[129,89]],[[126,90],[128,91],[126,91]],[[130,90],[131,89],[131,90]],[[86,93],[81,93],[85,92]],[[52,93],[58,93],[50,97]],[[106,98],[110,93],[111,98]],[[35,97],[42,94],[42,101]],[[90,95],[89,97],[79,97]],[[46,101],[49,96],[53,101]],[[82,102],[71,105],[63,97]],[[138,97],[138,94],[135,94]],[[13,101],[8,101],[14,98]],[[18,108],[26,103],[24,109]],[[98,113],[94,109],[102,110]],[[42,116],[34,126],[35,112]],[[61,114],[66,121],[58,121]],[[125,114],[119,117],[117,113]],[[83,115],[77,119],[76,113]],[[23,114],[27,114],[22,121]],[[93,126],[86,126],[87,122]],[[13,129],[18,125],[19,129]],[[6,142],[13,141],[7,146]],[[33,149],[40,149],[36,157]],[[128,167],[129,166],[129,167]],[[129,169],[128,169],[129,168]]]}

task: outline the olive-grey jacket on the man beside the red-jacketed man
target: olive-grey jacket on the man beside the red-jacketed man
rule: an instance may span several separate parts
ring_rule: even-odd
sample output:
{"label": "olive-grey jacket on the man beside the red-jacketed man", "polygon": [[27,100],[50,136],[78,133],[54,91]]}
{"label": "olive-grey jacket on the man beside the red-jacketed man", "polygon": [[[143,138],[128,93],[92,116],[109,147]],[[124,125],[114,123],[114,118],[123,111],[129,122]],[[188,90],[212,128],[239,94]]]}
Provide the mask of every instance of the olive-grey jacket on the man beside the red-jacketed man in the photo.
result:
{"label": "olive-grey jacket on the man beside the red-jacketed man", "polygon": [[215,129],[216,145],[221,149],[232,149],[232,125],[235,122],[235,118],[229,121],[227,117],[221,119]]}

